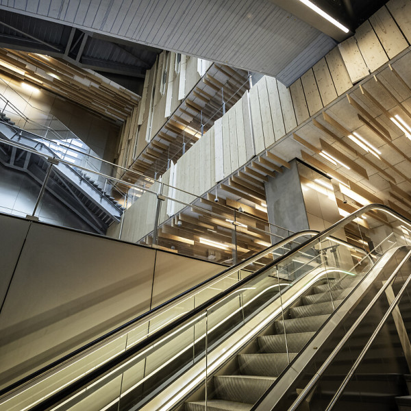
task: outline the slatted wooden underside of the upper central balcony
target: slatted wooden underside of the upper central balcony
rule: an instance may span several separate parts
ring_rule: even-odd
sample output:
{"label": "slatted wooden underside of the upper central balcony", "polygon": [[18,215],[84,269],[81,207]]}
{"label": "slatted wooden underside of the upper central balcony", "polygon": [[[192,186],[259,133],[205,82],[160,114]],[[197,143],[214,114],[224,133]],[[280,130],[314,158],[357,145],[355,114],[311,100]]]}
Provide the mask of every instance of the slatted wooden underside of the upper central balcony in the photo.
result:
{"label": "slatted wooden underside of the upper central balcony", "polygon": [[207,132],[223,115],[223,97],[225,110],[229,110],[248,88],[246,71],[213,64],[138,155],[129,167],[130,171],[123,174],[123,179],[140,185],[146,182],[147,185],[147,179],[134,171],[147,177],[160,177],[166,171],[169,159],[176,162],[183,155],[184,142],[187,151],[201,138],[201,121],[203,132]]}

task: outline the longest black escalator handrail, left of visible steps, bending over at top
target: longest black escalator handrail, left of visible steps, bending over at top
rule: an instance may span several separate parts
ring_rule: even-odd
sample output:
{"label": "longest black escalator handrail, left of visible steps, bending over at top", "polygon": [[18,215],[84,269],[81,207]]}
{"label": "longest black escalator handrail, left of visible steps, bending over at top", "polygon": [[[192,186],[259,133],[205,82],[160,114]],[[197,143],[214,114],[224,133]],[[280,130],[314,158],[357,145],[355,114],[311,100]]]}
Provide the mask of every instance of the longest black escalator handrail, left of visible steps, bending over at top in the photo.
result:
{"label": "longest black escalator handrail, left of visible steps, bending over at top", "polygon": [[[327,236],[329,236],[331,232],[333,232],[335,229],[337,229],[341,225],[345,225],[353,221],[358,216],[361,216],[362,214],[364,214],[365,212],[369,210],[383,210],[384,212],[388,212],[388,214],[391,214],[395,218],[399,219],[403,223],[406,223],[407,225],[410,225],[411,227],[410,220],[406,219],[406,217],[402,216],[401,214],[399,214],[398,212],[396,212],[395,210],[393,210],[392,208],[388,206],[384,206],[383,204],[378,204],[378,203],[371,203],[367,206],[364,206],[360,208],[359,210],[357,210],[356,212],[349,214],[349,216],[345,217],[344,219],[337,221],[336,223],[331,225],[329,228],[325,229],[323,232],[320,232],[319,234],[316,234],[309,240],[306,240],[305,242],[301,243],[301,245],[296,247],[294,250],[288,251],[288,253],[284,254],[284,256],[281,256],[277,258],[276,260],[273,260],[273,262],[262,267],[262,269],[259,269],[258,271],[250,274],[245,279],[240,280],[237,284],[234,284],[233,286],[227,288],[223,292],[220,292],[218,295],[215,295],[208,301],[205,301],[197,308],[194,308],[190,312],[179,317],[179,319],[173,321],[172,323],[169,323],[168,325],[165,325],[164,327],[162,327],[162,329],[159,329],[157,332],[154,332],[153,334],[151,334],[151,336],[147,336],[144,340],[140,341],[140,343],[136,343],[136,345],[127,349],[126,351],[123,351],[118,356],[112,358],[112,360],[109,360],[108,362],[99,366],[97,369],[91,371],[87,375],[80,377],[77,381],[73,382],[72,384],[69,384],[68,386],[62,388],[62,390],[58,391],[58,393],[54,393],[53,395],[51,395],[51,397],[43,400],[38,406],[34,406],[32,410],[33,411],[34,410],[45,410],[49,406],[52,406],[53,404],[58,403],[62,401],[63,399],[66,399],[67,397],[77,393],[79,390],[84,389],[84,386],[97,381],[98,379],[103,377],[105,374],[110,373],[110,371],[112,371],[116,367],[121,366],[122,364],[127,362],[130,358],[132,358],[132,356],[137,355],[140,351],[143,351],[147,349],[147,347],[149,347],[150,345],[153,345],[153,343],[155,343],[156,340],[160,340],[160,338],[164,338],[164,336],[166,336],[166,334],[171,333],[173,329],[176,329],[177,327],[190,321],[191,319],[193,319],[193,317],[197,316],[197,314],[200,314],[204,310],[210,309],[210,307],[214,306],[214,304],[218,303],[219,301],[227,297],[227,295],[231,294],[232,292],[235,292],[238,288],[244,286],[245,284],[247,284],[247,282],[258,277],[258,275],[260,275],[261,273],[264,273],[266,270],[271,269],[271,267],[276,266],[283,260],[288,259],[290,256],[293,256],[294,254],[298,253],[301,249],[308,247],[309,245],[313,244],[316,241],[326,238]],[[177,299],[177,297],[175,297],[175,299]]]}

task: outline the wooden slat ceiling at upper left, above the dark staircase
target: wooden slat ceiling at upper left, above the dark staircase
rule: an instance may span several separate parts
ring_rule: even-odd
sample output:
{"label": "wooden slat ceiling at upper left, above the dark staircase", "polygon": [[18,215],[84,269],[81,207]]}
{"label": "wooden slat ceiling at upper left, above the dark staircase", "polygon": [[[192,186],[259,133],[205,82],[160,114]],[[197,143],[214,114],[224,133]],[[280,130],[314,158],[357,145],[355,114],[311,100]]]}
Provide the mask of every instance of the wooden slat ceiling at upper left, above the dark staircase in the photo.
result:
{"label": "wooden slat ceiling at upper left, above the dark staircase", "polygon": [[134,92],[93,71],[45,55],[0,49],[0,69],[117,123],[123,123],[140,101]]}

